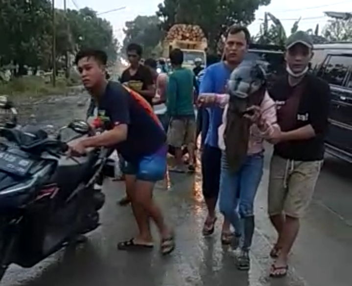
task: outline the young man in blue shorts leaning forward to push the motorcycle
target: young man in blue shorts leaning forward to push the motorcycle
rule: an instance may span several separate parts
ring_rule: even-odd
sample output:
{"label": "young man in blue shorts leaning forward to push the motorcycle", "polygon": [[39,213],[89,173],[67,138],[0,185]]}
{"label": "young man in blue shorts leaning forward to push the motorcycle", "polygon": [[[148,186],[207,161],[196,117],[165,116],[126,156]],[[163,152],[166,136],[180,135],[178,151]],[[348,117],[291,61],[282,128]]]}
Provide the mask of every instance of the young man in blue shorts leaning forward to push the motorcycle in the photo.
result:
{"label": "young man in blue shorts leaning forward to push the motorcycle", "polygon": [[118,249],[153,247],[149,217],[161,235],[161,252],[168,254],[175,247],[174,236],[164,223],[159,207],[152,199],[157,181],[166,170],[166,135],[152,107],[138,93],[105,78],[107,56],[100,50],[80,51],[75,64],[87,91],[98,103],[98,115],[108,131],[71,145],[69,154],[82,155],[86,148],[114,146],[126,160],[123,172],[136,178],[135,188],[128,194],[139,228],[139,235],[118,243]]}

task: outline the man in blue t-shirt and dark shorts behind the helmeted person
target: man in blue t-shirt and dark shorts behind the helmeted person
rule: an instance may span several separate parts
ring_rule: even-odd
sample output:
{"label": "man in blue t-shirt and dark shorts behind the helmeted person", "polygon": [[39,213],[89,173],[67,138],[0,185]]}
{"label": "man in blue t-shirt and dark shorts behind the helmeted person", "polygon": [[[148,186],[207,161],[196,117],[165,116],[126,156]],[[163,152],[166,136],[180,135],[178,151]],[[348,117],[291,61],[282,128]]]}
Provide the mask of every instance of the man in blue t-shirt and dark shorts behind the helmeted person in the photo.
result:
{"label": "man in blue t-shirt and dark shorts behind the helmeted person", "polygon": [[[224,47],[226,60],[211,65],[205,70],[199,94],[225,94],[231,72],[243,61],[247,52],[250,35],[246,27],[232,26],[227,32]],[[218,128],[222,123],[220,107],[208,108],[209,128],[202,153],[203,195],[208,208],[203,234],[214,232],[216,221],[215,206],[219,194],[221,150],[218,147]],[[235,212],[235,210],[234,210]],[[235,230],[240,231],[240,230]],[[225,220],[222,227],[221,241],[231,244],[233,240],[230,222]]]}

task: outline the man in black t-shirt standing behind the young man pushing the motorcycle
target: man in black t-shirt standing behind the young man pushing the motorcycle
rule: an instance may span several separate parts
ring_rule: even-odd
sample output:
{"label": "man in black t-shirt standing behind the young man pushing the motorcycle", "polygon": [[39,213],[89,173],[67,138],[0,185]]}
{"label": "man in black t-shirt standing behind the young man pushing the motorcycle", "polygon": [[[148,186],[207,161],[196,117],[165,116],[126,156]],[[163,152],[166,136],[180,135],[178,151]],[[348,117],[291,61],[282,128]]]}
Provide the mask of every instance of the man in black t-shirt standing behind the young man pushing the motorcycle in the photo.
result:
{"label": "man in black t-shirt standing behind the young man pushing the motorcycle", "polygon": [[130,66],[122,72],[121,83],[138,92],[152,105],[155,96],[153,74],[149,68],[141,64],[142,47],[130,44],[127,47],[127,57]]}

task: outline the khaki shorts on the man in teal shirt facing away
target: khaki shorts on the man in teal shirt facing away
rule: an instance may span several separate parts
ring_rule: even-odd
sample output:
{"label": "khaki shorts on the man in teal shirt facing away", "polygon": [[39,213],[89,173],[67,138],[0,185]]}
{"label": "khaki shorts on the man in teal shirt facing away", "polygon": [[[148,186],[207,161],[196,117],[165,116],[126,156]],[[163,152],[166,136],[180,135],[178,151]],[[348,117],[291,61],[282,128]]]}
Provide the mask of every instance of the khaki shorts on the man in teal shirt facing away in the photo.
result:
{"label": "khaki shorts on the man in teal shirt facing away", "polygon": [[195,144],[195,119],[171,119],[167,130],[167,143],[175,148]]}

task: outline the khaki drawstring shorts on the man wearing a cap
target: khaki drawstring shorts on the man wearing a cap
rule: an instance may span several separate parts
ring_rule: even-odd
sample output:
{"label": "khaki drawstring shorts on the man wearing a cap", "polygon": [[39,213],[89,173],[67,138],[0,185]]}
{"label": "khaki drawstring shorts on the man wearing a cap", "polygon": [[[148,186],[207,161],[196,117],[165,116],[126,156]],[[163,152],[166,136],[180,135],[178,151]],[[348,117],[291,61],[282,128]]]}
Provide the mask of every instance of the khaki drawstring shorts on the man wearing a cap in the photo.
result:
{"label": "khaki drawstring shorts on the man wearing a cap", "polygon": [[270,163],[268,213],[302,217],[309,206],[323,161],[293,161],[273,155]]}

